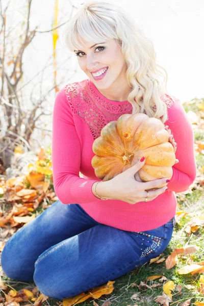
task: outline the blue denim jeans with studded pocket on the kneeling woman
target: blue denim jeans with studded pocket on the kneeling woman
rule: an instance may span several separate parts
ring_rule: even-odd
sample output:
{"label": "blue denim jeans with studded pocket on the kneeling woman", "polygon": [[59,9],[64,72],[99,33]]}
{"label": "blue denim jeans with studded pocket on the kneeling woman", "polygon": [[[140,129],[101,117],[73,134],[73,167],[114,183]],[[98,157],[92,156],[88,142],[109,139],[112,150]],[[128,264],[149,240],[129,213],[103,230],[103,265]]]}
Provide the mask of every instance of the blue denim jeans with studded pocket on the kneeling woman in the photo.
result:
{"label": "blue denim jeans with studded pocket on the kneeling woman", "polygon": [[145,232],[98,223],[79,204],[54,202],[6,242],[1,264],[19,281],[34,280],[48,297],[64,299],[130,272],[157,257],[175,218]]}

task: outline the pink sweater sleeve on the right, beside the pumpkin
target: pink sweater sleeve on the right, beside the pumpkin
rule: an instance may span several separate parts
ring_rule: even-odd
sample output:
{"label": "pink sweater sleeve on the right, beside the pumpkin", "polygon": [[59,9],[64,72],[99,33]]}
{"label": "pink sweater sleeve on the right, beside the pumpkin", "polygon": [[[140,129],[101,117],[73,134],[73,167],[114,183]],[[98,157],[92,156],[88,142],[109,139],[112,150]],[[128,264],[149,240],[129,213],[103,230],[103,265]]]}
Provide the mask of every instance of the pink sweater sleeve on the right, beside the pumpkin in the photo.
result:
{"label": "pink sweater sleeve on the right, beside the pumpkin", "polygon": [[196,177],[193,129],[181,101],[175,97],[168,117],[165,125],[168,124],[177,143],[175,156],[179,163],[172,167],[173,175],[167,187],[169,191],[182,192],[188,189]]}

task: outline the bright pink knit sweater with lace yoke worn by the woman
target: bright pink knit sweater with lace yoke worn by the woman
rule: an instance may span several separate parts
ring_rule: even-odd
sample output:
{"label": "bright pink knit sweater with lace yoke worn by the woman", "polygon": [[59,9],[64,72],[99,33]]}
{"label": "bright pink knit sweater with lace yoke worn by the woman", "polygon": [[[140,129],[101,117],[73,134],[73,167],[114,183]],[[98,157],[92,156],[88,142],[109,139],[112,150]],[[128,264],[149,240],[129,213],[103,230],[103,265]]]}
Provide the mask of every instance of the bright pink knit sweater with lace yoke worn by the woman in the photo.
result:
{"label": "bright pink knit sweater with lace yoke worn by the woman", "polygon": [[62,203],[78,203],[96,221],[132,232],[152,230],[175,215],[175,192],[187,190],[196,177],[194,136],[181,102],[172,95],[162,98],[168,108],[165,125],[177,143],[175,155],[180,162],[173,166],[168,191],[154,200],[131,205],[121,200],[100,200],[91,189],[94,182],[101,181],[91,165],[93,141],[108,122],[131,114],[131,103],[106,98],[89,79],[67,84],[57,93],[52,162],[54,188]]}

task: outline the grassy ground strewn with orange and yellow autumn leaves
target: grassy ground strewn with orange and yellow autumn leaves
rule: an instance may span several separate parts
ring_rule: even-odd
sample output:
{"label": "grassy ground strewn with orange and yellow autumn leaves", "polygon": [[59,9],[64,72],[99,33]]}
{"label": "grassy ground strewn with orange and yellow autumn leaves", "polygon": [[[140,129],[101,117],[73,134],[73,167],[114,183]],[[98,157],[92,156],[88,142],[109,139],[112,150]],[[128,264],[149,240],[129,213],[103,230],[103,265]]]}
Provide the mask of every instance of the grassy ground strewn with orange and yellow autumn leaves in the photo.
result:
{"label": "grassy ground strewn with orange and yellow autumn leaves", "polygon": [[[194,131],[197,177],[187,191],[176,193],[176,226],[166,250],[113,282],[63,301],[43,295],[34,282],[8,278],[0,267],[0,306],[204,306],[204,99],[183,106]],[[57,199],[50,149],[41,148],[28,167],[29,174],[7,181],[1,176],[0,252],[9,237]]]}

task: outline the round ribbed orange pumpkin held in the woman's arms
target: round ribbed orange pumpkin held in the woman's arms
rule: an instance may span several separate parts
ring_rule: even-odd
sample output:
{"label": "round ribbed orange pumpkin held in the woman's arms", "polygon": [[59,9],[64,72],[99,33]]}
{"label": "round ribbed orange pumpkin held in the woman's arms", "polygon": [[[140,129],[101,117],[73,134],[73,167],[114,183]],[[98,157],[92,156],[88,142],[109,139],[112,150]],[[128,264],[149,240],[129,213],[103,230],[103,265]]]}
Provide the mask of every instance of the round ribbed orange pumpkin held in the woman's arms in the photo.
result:
{"label": "round ribbed orange pumpkin held in the woman's arms", "polygon": [[145,165],[135,175],[138,181],[171,179],[173,174],[175,154],[169,133],[161,120],[146,114],[124,114],[109,122],[94,140],[92,150],[95,156],[91,165],[103,181],[113,179],[143,156]]}

